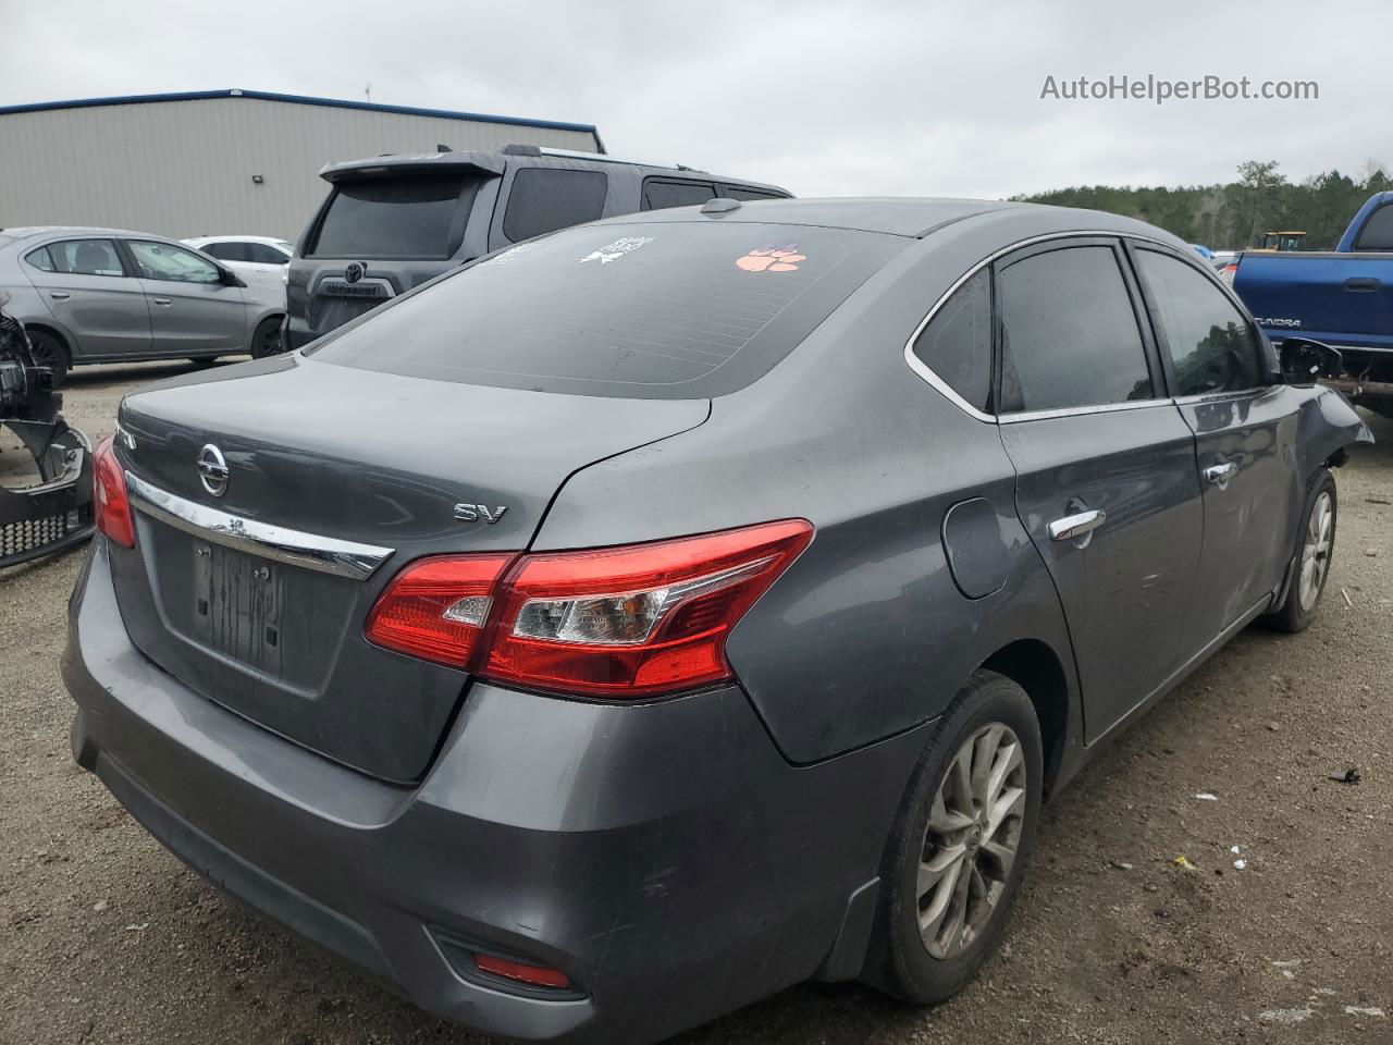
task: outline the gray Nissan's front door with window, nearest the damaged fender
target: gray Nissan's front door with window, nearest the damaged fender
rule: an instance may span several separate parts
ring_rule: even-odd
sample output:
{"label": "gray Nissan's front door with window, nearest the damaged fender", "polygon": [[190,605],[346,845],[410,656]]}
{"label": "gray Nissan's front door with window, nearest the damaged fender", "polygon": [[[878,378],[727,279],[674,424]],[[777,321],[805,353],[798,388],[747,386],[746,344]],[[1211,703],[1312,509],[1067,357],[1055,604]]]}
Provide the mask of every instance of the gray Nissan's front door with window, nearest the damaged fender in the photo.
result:
{"label": "gray Nissan's front door with window, nearest the damaged fender", "polygon": [[1305,490],[1290,453],[1301,393],[1272,383],[1248,318],[1199,266],[1162,248],[1133,256],[1195,433],[1205,541],[1185,645],[1197,651],[1282,582]]}

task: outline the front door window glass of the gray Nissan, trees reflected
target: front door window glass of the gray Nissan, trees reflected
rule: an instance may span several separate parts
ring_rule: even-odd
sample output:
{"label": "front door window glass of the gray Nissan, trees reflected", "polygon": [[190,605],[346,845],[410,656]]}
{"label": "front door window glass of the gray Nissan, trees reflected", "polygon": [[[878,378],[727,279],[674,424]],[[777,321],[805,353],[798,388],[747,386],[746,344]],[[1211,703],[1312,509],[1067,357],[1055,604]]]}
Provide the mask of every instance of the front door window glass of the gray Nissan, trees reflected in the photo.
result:
{"label": "front door window glass of the gray Nissan, trees reflected", "polygon": [[1208,276],[1158,251],[1138,251],[1137,265],[1156,302],[1177,396],[1263,383],[1248,322]]}

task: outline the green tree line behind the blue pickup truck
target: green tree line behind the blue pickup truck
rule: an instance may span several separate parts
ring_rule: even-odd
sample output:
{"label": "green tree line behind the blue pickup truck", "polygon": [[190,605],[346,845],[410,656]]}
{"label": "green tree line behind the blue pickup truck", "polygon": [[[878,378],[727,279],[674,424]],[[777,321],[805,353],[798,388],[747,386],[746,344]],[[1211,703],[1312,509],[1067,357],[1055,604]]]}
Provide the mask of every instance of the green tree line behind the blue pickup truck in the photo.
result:
{"label": "green tree line behind the blue pickup truck", "polygon": [[1334,247],[1364,201],[1385,189],[1393,189],[1393,178],[1372,160],[1358,181],[1332,170],[1300,184],[1287,181],[1276,160],[1250,160],[1238,164],[1238,180],[1226,185],[1091,185],[1014,199],[1139,217],[1216,251],[1255,247],[1263,233],[1289,230],[1307,233],[1307,249],[1323,251]]}

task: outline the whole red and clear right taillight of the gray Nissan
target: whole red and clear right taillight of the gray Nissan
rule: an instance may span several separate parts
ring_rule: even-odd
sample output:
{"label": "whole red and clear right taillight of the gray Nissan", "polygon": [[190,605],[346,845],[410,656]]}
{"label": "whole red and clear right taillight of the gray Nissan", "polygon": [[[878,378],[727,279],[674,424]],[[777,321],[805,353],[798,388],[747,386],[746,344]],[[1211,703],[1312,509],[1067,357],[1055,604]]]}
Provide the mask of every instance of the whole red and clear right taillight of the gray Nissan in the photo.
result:
{"label": "whole red and clear right taillight of the gray Nissan", "polygon": [[788,520],[525,555],[506,575],[506,555],[425,559],[383,594],[368,637],[525,688],[625,699],[709,686],[733,677],[730,631],[811,539]]}

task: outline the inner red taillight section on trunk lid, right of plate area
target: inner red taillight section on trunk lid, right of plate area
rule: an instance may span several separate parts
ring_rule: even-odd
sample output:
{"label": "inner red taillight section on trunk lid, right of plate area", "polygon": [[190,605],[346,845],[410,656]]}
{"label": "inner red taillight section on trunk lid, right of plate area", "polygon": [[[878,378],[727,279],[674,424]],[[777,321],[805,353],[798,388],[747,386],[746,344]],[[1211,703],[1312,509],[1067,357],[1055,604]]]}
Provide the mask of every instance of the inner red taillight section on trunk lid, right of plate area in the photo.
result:
{"label": "inner red taillight section on trunk lid, right of plate area", "polygon": [[454,667],[469,665],[513,556],[422,559],[403,570],[368,614],[368,640]]}

